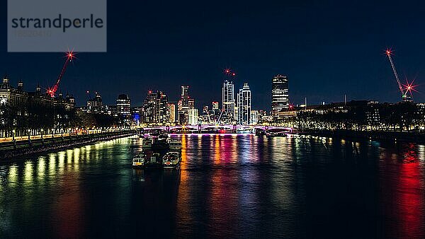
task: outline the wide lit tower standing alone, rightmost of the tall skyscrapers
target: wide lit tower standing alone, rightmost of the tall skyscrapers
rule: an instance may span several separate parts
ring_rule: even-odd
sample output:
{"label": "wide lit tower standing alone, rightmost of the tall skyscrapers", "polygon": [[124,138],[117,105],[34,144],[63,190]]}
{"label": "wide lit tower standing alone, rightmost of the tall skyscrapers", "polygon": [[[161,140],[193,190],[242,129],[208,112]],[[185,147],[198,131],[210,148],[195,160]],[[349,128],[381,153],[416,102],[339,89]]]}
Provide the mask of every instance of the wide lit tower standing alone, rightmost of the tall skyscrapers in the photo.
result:
{"label": "wide lit tower standing alone, rightmost of the tall skyscrapers", "polygon": [[278,112],[289,108],[288,77],[277,75],[271,83],[271,114],[276,117]]}

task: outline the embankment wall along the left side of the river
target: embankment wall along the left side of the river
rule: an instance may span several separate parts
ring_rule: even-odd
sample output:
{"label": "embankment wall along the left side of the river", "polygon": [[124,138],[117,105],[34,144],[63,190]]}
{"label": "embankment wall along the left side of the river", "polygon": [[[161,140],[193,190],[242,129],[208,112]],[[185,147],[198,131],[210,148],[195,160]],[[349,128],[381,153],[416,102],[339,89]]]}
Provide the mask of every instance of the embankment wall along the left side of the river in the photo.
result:
{"label": "embankment wall along the left side of the river", "polygon": [[33,139],[26,141],[10,141],[0,144],[0,160],[13,159],[18,156],[26,156],[35,153],[59,151],[65,148],[73,148],[93,144],[97,141],[107,141],[136,134],[128,130],[122,132],[104,132],[99,134],[79,134],[47,139]]}

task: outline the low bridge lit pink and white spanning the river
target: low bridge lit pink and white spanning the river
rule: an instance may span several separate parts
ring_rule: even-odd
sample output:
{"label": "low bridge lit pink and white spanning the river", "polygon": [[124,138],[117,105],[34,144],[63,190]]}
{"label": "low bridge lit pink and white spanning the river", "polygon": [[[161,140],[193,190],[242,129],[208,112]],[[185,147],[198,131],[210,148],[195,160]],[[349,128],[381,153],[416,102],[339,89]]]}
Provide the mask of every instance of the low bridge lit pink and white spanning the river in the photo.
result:
{"label": "low bridge lit pink and white spanning the river", "polygon": [[209,125],[209,124],[200,124],[200,125],[185,125],[185,126],[157,126],[157,127],[143,127],[144,130],[154,130],[160,129],[166,132],[173,130],[188,130],[188,131],[211,131],[211,130],[230,130],[232,132],[246,132],[254,130],[263,130],[263,131],[276,131],[276,132],[293,132],[293,128],[290,127],[273,127],[273,126],[254,126],[254,125],[236,125],[236,124],[225,124],[225,125]]}

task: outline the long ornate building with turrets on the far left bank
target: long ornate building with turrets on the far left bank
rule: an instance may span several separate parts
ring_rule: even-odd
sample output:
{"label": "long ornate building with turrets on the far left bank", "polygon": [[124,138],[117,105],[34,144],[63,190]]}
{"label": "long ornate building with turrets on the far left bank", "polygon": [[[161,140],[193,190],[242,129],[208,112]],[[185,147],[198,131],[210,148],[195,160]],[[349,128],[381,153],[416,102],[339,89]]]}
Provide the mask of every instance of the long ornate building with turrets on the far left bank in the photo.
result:
{"label": "long ornate building with turrets on the far left bank", "polygon": [[8,76],[0,84],[0,136],[11,136],[12,129],[16,136],[40,134],[39,130],[60,129],[68,127],[74,112],[75,99],[67,94],[64,98],[58,93],[54,98],[41,91],[37,86],[35,92],[26,92],[23,82],[14,88]]}

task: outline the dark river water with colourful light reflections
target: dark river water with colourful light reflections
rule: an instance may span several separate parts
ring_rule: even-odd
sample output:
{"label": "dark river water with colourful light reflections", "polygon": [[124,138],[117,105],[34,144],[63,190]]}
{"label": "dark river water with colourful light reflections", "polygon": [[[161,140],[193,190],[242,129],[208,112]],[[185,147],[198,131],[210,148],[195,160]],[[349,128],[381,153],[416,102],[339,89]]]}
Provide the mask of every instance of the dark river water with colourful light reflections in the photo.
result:
{"label": "dark river water with colourful light reflections", "polygon": [[0,165],[0,238],[424,238],[425,146],[183,136],[178,171],[140,139]]}

